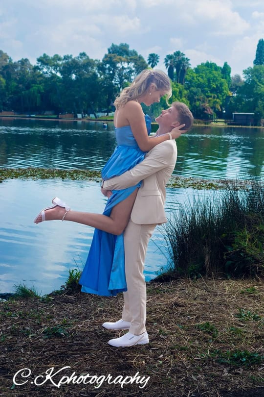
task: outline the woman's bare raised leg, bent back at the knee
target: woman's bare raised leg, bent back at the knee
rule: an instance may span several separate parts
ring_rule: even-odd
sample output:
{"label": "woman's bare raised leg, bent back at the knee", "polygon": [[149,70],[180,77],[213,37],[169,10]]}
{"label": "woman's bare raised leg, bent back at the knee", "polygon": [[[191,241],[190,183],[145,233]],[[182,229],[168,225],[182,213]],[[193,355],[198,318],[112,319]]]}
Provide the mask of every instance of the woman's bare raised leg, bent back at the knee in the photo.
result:
{"label": "woman's bare raised leg, bent back at the knee", "polygon": [[[129,222],[137,190],[138,189],[135,189],[127,199],[116,204],[109,217],[102,214],[94,214],[92,212],[70,210],[66,214],[64,220],[86,224],[111,234],[121,234]],[[45,211],[45,220],[62,220],[64,214],[65,208],[57,205],[56,207]]]}

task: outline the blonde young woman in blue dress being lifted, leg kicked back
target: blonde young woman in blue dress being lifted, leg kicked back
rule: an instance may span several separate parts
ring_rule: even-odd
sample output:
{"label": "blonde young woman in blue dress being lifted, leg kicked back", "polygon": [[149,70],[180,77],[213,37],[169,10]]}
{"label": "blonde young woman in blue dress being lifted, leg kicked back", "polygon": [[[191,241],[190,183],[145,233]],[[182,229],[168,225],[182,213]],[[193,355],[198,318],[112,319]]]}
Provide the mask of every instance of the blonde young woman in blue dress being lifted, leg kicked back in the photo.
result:
{"label": "blonde young woman in blue dress being lifted, leg kicked back", "polygon": [[[162,71],[144,70],[115,100],[114,126],[117,147],[102,170],[103,180],[123,174],[144,159],[147,151],[178,136],[180,125],[170,133],[149,137],[151,119],[144,115],[140,103],[150,106],[160,98],[171,96],[170,80]],[[60,199],[45,208],[35,223],[62,220],[87,224],[95,228],[88,259],[82,273],[82,291],[98,295],[116,295],[126,291],[123,231],[130,219],[140,183],[113,191],[103,215],[70,210]]]}

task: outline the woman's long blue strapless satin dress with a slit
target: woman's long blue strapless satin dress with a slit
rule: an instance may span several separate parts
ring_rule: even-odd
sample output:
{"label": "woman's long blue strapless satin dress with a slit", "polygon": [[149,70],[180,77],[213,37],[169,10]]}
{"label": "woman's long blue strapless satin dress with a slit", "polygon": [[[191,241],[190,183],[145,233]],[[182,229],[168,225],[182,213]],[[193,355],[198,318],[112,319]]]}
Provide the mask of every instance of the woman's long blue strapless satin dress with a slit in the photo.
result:
{"label": "woman's long blue strapless satin dress with a slit", "polygon": [[[151,132],[151,118],[145,115],[148,134]],[[146,152],[139,149],[130,125],[115,128],[117,147],[102,170],[102,178],[110,179],[131,170],[140,163]],[[123,190],[112,190],[103,215],[110,216],[112,208],[129,197],[140,187],[137,185]],[[88,258],[80,277],[82,292],[102,296],[115,296],[127,291],[125,276],[125,251],[123,233],[119,236],[94,229]]]}

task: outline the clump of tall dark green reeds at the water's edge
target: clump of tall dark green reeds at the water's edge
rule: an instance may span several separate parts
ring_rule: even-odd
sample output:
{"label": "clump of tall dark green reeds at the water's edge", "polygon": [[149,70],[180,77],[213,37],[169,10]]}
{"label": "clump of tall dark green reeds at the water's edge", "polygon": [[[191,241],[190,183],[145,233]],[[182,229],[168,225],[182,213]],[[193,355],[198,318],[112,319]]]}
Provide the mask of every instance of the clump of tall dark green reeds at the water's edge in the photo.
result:
{"label": "clump of tall dark green reeds at the water's edge", "polygon": [[264,182],[229,182],[185,202],[165,226],[171,275],[256,276],[264,272]]}

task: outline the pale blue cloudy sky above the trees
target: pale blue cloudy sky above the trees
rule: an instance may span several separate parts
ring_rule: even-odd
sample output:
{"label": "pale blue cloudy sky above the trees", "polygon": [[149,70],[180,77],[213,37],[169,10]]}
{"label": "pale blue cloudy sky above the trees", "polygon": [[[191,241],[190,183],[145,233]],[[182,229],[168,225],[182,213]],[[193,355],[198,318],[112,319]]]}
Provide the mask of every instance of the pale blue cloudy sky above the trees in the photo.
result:
{"label": "pale blue cloudy sky above the trees", "polygon": [[264,0],[0,0],[0,50],[34,65],[46,53],[102,60],[127,43],[146,60],[180,50],[191,67],[206,61],[253,66],[264,38]]}

